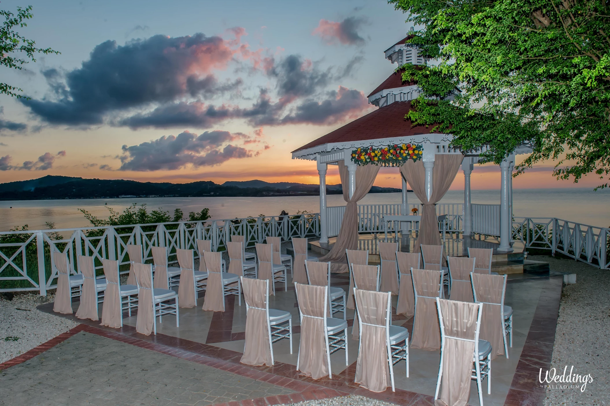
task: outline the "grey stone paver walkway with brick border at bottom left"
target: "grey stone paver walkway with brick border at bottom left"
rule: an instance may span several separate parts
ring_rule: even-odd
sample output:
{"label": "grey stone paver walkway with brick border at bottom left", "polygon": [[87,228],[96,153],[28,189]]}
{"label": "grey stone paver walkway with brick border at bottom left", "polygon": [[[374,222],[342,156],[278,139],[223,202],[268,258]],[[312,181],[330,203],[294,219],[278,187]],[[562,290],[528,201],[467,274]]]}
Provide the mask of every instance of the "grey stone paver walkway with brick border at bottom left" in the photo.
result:
{"label": "grey stone paver walkway with brick border at bottom left", "polygon": [[293,392],[86,332],[0,371],[7,406],[203,406]]}

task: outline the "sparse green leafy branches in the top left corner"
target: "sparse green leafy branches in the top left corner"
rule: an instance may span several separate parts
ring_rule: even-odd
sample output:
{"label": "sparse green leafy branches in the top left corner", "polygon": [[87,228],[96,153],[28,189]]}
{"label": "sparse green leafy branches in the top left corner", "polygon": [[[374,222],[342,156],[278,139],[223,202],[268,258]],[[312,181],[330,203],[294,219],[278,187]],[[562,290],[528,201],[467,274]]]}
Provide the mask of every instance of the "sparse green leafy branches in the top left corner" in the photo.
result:
{"label": "sparse green leafy branches in the top left corner", "polygon": [[[25,21],[34,16],[31,11],[31,5],[28,5],[25,9],[17,7],[16,15],[10,11],[0,10],[0,15],[4,16],[4,23],[0,26],[0,65],[12,69],[23,69],[21,65],[28,63],[29,60],[16,57],[15,53],[25,53],[27,58],[32,60],[32,62],[36,62],[34,53],[59,54],[58,51],[54,51],[51,48],[36,48],[34,41],[22,37],[13,29],[14,27],[26,27]],[[15,92],[23,92],[23,90],[16,86],[0,83],[0,94],[4,93],[16,98],[24,97]]]}

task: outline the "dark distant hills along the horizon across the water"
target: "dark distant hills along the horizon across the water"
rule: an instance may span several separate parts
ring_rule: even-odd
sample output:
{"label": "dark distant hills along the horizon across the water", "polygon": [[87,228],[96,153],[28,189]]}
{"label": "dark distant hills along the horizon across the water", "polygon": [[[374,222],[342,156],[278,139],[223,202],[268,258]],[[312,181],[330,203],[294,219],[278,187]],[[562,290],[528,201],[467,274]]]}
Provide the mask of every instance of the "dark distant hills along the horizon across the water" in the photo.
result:
{"label": "dark distant hills along the horizon across the water", "polygon": [[[267,197],[318,195],[317,184],[212,181],[192,183],[152,183],[124,179],[83,179],[70,176],[44,176],[28,181],[0,184],[0,200],[88,199],[117,197]],[[342,187],[328,185],[328,194],[341,194]],[[371,193],[395,193],[394,187],[373,186]]]}

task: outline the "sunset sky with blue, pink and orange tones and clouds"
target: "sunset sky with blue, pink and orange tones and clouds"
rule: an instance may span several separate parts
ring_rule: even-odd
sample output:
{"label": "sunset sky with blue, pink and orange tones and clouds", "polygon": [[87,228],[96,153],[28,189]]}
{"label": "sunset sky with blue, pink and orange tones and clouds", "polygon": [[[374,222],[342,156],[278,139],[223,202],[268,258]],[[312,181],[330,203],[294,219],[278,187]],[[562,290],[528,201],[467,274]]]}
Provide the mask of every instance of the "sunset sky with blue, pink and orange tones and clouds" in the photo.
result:
{"label": "sunset sky with blue, pink and orange tones and clouds", "polygon": [[[61,54],[0,68],[29,97],[0,95],[2,183],[318,183],[315,162],[290,151],[376,109],[366,96],[397,67],[383,51],[411,27],[383,0],[28,4],[34,18],[20,34]],[[552,168],[543,162],[514,187],[598,183],[557,181]],[[339,183],[336,168],[327,183]],[[397,169],[375,184],[400,187]],[[451,189],[463,186],[460,171]],[[475,165],[473,189],[499,187],[497,165]]]}

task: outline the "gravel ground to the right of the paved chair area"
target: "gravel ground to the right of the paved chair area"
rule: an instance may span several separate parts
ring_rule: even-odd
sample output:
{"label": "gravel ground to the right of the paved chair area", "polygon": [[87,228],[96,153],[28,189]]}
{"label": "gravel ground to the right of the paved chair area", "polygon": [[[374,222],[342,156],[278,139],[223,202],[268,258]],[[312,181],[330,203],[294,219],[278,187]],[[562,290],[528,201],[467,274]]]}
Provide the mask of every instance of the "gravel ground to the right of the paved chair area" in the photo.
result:
{"label": "gravel ground to the right of the paved chair area", "polygon": [[[586,390],[547,391],[545,405],[610,405],[610,271],[573,259],[529,256],[547,261],[552,270],[576,274],[576,284],[564,286],[551,368],[562,375],[590,374]],[[545,371],[543,371],[544,374]]]}

